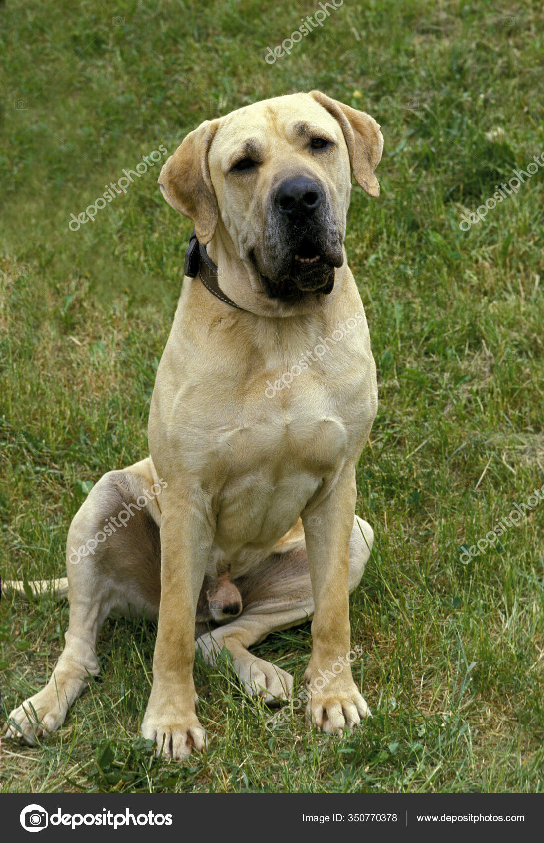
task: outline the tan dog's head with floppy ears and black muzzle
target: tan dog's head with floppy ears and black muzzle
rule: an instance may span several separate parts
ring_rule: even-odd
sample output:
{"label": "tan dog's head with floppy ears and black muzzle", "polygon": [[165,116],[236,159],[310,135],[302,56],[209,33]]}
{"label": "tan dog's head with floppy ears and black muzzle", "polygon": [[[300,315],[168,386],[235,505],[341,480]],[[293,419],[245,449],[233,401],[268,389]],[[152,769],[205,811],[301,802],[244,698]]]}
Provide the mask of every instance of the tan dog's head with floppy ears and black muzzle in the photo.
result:
{"label": "tan dog's head with floppy ears and black muzzle", "polygon": [[218,227],[253,291],[289,304],[330,293],[344,262],[351,173],[378,196],[380,126],[319,91],[265,99],[206,121],[158,184],[200,243]]}

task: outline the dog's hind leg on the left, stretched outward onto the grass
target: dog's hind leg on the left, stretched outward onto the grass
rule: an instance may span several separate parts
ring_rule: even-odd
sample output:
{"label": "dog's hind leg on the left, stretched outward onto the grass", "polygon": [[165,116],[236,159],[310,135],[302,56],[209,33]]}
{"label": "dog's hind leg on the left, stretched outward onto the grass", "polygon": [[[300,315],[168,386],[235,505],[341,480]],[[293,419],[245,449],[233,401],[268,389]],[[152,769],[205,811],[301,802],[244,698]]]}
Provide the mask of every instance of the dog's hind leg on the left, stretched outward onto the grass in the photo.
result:
{"label": "dog's hind leg on the left, stretched outward onto the grass", "polygon": [[[61,726],[69,706],[99,673],[96,640],[110,612],[157,615],[160,513],[156,498],[143,496],[155,480],[151,459],[109,471],[73,518],[67,539],[70,623],[66,646],[45,688],[11,712],[9,737],[34,744],[36,738]],[[121,513],[129,514],[122,518]],[[117,524],[107,538],[105,523]],[[80,553],[82,549],[88,552]]]}

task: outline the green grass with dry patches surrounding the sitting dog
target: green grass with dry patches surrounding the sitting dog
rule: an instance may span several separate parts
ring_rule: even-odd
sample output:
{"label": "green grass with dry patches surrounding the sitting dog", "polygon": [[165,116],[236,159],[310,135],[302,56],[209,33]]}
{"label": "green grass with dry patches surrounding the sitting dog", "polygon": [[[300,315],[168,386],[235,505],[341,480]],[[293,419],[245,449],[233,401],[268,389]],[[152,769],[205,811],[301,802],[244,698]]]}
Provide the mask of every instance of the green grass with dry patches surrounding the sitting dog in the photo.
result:
{"label": "green grass with dry patches surrounding the sitting dog", "polygon": [[[210,747],[152,760],[137,735],[154,628],[109,620],[61,733],[3,742],[4,790],[542,792],[544,502],[459,561],[544,482],[542,170],[459,229],[544,150],[541,3],[512,22],[480,0],[346,2],[273,67],[267,46],[317,3],[195,5],[0,6],[2,571],[62,575],[89,484],[147,454],[179,295],[191,224],[158,164],[94,223],[72,233],[70,214],[206,118],[322,89],[386,139],[381,196],[354,190],[346,242],[380,382],[357,504],[376,542],[351,601],[374,717],[343,740],[300,712],[270,733],[228,663],[197,663]],[[4,717],[45,682],[67,619],[51,599],[3,600]],[[305,625],[256,652],[300,683],[310,645]]]}

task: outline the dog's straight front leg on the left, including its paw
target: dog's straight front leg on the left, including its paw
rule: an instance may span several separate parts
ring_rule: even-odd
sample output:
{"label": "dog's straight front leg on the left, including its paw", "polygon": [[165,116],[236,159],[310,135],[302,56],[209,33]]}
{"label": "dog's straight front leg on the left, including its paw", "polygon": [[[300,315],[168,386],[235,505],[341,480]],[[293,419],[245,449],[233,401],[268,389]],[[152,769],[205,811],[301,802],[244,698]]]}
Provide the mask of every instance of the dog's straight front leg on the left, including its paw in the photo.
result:
{"label": "dog's straight front leg on the left, including its paw", "polygon": [[202,508],[163,492],[161,600],[153,653],[153,684],[141,726],[157,742],[157,754],[183,759],[203,749],[204,729],[195,713],[195,612],[213,528]]}

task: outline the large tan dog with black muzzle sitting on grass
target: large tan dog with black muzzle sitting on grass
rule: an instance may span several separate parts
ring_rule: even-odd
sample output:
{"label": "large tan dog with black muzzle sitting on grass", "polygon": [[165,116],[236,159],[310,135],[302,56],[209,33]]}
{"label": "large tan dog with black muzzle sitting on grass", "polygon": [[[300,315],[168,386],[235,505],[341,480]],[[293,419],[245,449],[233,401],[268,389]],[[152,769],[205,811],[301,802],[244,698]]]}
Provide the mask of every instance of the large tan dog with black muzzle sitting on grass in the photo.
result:
{"label": "large tan dog with black muzzle sitting on grass", "polygon": [[354,513],[376,370],[343,243],[351,171],[377,196],[382,145],[369,115],[312,91],[206,121],[163,166],[163,194],[194,221],[226,300],[185,277],[150,456],[104,475],[72,521],[66,648],[12,712],[12,737],[60,727],[99,672],[96,637],[112,611],[158,614],[142,733],[173,758],[205,743],[195,620],[205,658],[227,647],[246,690],[274,701],[292,678],[248,647],[313,615],[308,717],[342,733],[368,714],[345,657],[348,595],[373,540]]}

